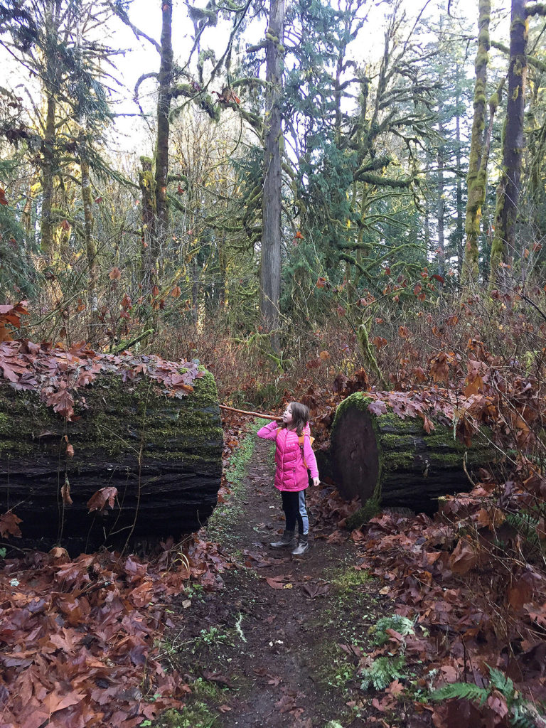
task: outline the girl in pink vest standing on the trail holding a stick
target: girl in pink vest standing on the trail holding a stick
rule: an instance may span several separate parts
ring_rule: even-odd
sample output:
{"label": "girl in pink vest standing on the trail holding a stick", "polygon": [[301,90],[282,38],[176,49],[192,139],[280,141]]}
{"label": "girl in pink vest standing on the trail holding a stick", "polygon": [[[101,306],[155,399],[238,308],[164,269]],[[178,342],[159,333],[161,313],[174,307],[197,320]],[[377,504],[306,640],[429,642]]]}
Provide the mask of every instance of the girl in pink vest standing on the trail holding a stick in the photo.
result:
{"label": "girl in pink vest standing on the trail holding a stick", "polygon": [[[309,486],[307,468],[311,471],[313,485],[320,478],[317,459],[309,440],[309,409],[298,402],[291,402],[282,415],[282,424],[269,422],[256,433],[258,438],[276,440],[274,486],[280,490],[282,510],[285,512],[285,531],[272,548],[293,548],[293,556],[301,556],[309,548],[309,518],[305,507],[305,489]],[[303,435],[303,447],[300,438]],[[298,543],[296,545],[296,522]]]}

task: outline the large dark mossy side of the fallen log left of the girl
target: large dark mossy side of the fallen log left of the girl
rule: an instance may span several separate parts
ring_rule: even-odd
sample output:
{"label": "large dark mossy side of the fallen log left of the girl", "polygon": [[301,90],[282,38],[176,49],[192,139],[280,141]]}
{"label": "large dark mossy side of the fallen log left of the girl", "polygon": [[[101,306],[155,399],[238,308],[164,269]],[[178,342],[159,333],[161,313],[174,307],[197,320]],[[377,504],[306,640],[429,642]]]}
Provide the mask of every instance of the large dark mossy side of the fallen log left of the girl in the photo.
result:
{"label": "large dark mossy side of the fallen log left of the girl", "polygon": [[[79,389],[73,422],[38,392],[0,379],[0,513],[22,519],[24,538],[88,545],[199,529],[213,512],[222,467],[215,381],[199,376],[179,398],[146,376],[135,383],[101,371]],[[101,488],[116,488],[113,507],[90,513]]]}

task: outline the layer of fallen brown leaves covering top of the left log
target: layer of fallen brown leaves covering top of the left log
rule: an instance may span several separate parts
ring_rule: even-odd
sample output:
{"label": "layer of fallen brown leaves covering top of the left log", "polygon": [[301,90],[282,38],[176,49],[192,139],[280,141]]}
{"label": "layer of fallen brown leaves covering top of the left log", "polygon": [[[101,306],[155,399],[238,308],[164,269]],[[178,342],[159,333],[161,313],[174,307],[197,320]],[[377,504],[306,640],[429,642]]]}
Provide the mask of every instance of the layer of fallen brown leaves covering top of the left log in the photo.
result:
{"label": "layer of fallen brown leaves covering top of the left log", "polygon": [[[82,341],[68,349],[59,344],[31,341],[3,341],[0,371],[14,389],[27,389],[60,416],[71,422],[78,390],[95,381],[100,373],[113,373],[123,381],[151,379],[168,397],[186,397],[194,391],[192,382],[204,376],[195,361],[171,362],[156,355],[99,354]],[[1,380],[0,380],[1,381]],[[80,402],[84,404],[84,401]]]}

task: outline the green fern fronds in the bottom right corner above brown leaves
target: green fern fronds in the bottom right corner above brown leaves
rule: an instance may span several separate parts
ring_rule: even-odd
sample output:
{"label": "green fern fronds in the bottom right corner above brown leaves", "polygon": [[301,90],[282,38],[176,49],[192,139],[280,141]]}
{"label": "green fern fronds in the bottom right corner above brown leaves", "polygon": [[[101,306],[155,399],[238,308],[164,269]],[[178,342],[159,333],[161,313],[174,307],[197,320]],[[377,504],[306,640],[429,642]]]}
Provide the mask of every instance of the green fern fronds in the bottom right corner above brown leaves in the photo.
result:
{"label": "green fern fronds in the bottom right corner above brown leaves", "polygon": [[496,690],[506,700],[510,716],[510,726],[512,728],[534,728],[536,722],[532,716],[534,708],[531,709],[531,703],[523,698],[521,693],[515,689],[513,681],[502,673],[501,670],[491,668],[489,665],[488,670],[488,687],[478,687],[478,685],[473,683],[451,683],[449,685],[443,685],[443,687],[432,692],[430,699],[439,701],[458,698],[459,700],[471,700],[473,703],[478,703],[482,707],[491,693]]}

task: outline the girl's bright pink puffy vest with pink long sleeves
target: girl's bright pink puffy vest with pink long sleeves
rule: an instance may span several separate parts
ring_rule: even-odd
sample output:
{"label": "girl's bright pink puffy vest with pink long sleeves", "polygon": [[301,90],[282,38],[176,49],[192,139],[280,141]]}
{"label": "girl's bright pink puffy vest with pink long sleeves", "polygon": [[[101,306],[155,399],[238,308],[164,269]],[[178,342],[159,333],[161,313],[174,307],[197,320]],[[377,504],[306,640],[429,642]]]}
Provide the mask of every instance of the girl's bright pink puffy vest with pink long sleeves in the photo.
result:
{"label": "girl's bright pink puffy vest with pink long sleeves", "polygon": [[309,441],[311,430],[309,424],[304,427],[304,453],[301,454],[298,433],[296,430],[288,430],[284,427],[277,430],[280,425],[278,422],[269,422],[265,427],[256,432],[258,438],[264,440],[276,440],[277,448],[275,450],[275,462],[277,470],[275,471],[275,488],[280,491],[303,491],[309,486],[309,478],[307,476],[307,464],[311,471],[312,478],[318,478],[317,459]]}

